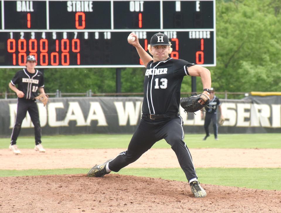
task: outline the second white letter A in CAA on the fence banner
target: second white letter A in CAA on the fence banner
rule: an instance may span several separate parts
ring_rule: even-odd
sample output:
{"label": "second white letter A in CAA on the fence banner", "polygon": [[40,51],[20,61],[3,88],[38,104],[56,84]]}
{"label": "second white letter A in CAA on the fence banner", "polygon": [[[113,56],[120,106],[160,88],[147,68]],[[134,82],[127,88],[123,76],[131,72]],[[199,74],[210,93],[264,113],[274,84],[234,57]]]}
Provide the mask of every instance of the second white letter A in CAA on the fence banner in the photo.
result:
{"label": "second white letter A in CAA on the fence banner", "polygon": [[91,106],[89,109],[86,125],[91,126],[91,121],[97,120],[97,126],[108,126],[103,113],[103,109],[101,108],[101,104],[99,102],[90,102],[90,104]]}

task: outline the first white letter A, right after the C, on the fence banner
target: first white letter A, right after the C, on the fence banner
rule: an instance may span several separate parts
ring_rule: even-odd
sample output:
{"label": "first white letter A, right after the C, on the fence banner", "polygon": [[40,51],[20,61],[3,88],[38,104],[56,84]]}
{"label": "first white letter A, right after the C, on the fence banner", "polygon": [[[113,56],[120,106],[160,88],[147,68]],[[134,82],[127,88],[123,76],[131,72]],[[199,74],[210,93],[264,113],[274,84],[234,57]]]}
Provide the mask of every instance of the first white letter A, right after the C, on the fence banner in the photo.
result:
{"label": "first white letter A, right after the C, on the fence banner", "polygon": [[69,121],[76,121],[76,126],[86,126],[83,112],[78,102],[68,102],[68,110],[64,119],[64,126],[69,126]]}

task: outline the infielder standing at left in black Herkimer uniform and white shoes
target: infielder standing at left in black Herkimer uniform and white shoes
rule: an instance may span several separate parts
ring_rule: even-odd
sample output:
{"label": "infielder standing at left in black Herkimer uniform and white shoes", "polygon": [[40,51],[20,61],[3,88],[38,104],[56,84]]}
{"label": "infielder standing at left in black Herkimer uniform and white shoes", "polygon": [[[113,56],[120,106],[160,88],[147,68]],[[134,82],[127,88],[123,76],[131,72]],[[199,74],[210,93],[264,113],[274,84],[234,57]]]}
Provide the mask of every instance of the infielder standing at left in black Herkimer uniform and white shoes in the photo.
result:
{"label": "infielder standing at left in black Herkimer uniform and white shoes", "polygon": [[[39,112],[34,99],[38,94],[45,93],[44,91],[44,78],[43,74],[35,70],[36,65],[35,56],[27,56],[26,58],[26,68],[18,71],[9,83],[11,90],[16,92],[18,96],[18,106],[17,106],[17,116],[16,123],[11,135],[11,144],[9,149],[14,152],[14,154],[20,154],[20,150],[16,145],[16,140],[21,131],[21,124],[28,111],[31,121],[34,125],[35,132],[35,150],[39,152],[45,152],[45,149],[41,145],[41,126],[39,121]],[[18,87],[16,87],[18,85]]]}

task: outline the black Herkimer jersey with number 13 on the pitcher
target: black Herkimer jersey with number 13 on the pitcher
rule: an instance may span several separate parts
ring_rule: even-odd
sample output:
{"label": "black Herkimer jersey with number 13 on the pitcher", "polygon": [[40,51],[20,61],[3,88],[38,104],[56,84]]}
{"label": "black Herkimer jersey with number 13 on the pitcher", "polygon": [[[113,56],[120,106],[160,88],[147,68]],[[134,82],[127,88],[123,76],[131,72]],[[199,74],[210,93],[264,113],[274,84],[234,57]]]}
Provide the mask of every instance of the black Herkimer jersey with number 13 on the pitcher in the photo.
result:
{"label": "black Herkimer jersey with number 13 on the pitcher", "polygon": [[168,58],[166,61],[150,61],[144,77],[145,114],[178,113],[180,106],[180,87],[187,68],[195,65],[181,59]]}

